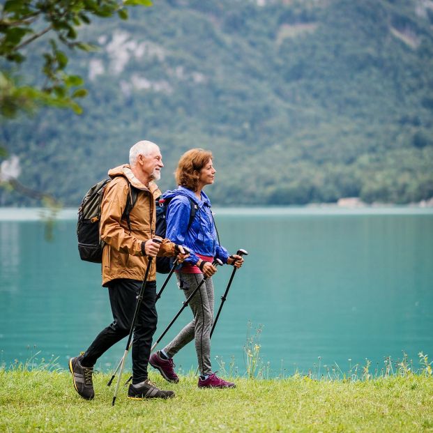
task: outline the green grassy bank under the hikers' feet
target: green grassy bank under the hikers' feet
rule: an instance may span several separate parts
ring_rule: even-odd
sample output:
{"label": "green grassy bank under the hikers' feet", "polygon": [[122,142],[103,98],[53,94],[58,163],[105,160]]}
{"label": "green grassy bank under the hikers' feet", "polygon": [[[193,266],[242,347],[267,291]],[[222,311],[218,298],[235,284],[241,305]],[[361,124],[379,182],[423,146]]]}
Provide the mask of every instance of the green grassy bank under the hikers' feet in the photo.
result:
{"label": "green grassy bank under the hikers' feet", "polygon": [[[1,370],[0,432],[433,432],[433,378],[367,381],[305,377],[236,379],[236,389],[199,390],[192,375],[170,384],[172,400],[136,401],[94,377],[82,400],[69,372]],[[127,376],[125,376],[127,379]]]}

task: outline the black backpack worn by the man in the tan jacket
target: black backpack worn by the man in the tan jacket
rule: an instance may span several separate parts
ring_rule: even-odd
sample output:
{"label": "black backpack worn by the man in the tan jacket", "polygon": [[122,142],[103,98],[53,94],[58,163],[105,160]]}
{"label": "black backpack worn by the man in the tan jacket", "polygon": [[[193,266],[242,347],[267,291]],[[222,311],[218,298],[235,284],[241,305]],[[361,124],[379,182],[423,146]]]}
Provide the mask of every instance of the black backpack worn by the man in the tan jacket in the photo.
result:
{"label": "black backpack worn by the man in the tan jacket", "polygon": [[[82,199],[78,208],[77,238],[79,257],[84,261],[102,263],[102,249],[104,242],[100,238],[100,205],[104,197],[105,188],[112,179],[104,179],[93,185]],[[129,214],[137,202],[137,189],[129,182],[130,194],[126,200],[125,211],[122,218],[126,218],[131,229]],[[132,199],[132,202],[131,202]]]}

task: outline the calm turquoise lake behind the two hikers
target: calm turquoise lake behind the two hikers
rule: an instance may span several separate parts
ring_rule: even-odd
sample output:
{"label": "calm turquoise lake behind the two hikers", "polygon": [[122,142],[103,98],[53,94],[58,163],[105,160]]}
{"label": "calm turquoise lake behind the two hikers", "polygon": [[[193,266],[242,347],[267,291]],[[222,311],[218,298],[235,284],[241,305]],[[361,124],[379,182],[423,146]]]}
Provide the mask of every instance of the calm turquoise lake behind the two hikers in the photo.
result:
{"label": "calm turquoise lake behind the two hikers", "polygon": [[[270,376],[307,373],[320,363],[343,372],[371,361],[383,368],[403,351],[417,369],[418,352],[433,359],[432,208],[215,209],[222,245],[250,253],[236,273],[212,342],[213,369],[234,359],[245,372],[248,323],[259,335]],[[76,211],[63,211],[54,238],[33,209],[0,208],[1,363],[36,355],[68,358],[86,349],[111,321],[100,265],[80,261]],[[215,311],[231,267],[215,275]],[[158,275],[158,288],[165,275]],[[175,278],[157,304],[155,338],[181,308]],[[191,319],[185,309],[162,344]],[[126,340],[100,358],[109,371]],[[218,357],[218,359],[217,359]],[[195,370],[192,344],[176,369]],[[129,361],[130,362],[130,361]],[[130,364],[129,364],[130,365]],[[127,364],[128,367],[128,364]]]}

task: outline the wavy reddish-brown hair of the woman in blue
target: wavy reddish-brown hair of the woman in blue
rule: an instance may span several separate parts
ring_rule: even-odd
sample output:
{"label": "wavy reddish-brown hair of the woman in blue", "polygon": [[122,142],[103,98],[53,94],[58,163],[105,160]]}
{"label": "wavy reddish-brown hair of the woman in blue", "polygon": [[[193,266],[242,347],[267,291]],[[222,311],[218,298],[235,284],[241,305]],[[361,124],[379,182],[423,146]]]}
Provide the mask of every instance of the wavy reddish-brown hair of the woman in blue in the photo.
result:
{"label": "wavy reddish-brown hair of the woman in blue", "polygon": [[204,149],[191,149],[183,153],[178,162],[176,183],[192,191],[197,191],[200,170],[212,159],[212,153]]}

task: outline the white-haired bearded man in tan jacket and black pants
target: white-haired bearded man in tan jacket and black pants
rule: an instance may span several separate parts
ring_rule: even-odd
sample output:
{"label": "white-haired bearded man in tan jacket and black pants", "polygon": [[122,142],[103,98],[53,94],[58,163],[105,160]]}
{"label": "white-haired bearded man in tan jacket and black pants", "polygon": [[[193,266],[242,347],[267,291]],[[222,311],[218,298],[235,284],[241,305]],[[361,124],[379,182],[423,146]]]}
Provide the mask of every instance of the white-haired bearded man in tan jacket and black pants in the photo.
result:
{"label": "white-haired bearded man in tan jacket and black pants", "polygon": [[[160,178],[164,165],[158,146],[142,141],[130,149],[130,165],[109,170],[112,181],[105,189],[101,205],[100,236],[105,242],[102,252],[102,286],[108,288],[113,322],[103,329],[93,343],[80,356],[71,358],[69,369],[73,374],[75,390],[83,398],[91,400],[93,390],[93,365],[109,347],[130,332],[137,294],[142,287],[149,257],[178,254],[180,261],[188,257],[183,248],[163,239],[153,241],[155,235],[155,198],[160,196],[154,181]],[[137,199],[128,222],[122,218],[131,186],[137,190]],[[144,289],[132,340],[132,383],[128,397],[173,397],[172,391],[158,389],[147,377],[147,364],[156,329],[155,264],[151,266]]]}

